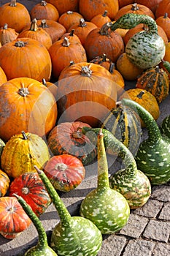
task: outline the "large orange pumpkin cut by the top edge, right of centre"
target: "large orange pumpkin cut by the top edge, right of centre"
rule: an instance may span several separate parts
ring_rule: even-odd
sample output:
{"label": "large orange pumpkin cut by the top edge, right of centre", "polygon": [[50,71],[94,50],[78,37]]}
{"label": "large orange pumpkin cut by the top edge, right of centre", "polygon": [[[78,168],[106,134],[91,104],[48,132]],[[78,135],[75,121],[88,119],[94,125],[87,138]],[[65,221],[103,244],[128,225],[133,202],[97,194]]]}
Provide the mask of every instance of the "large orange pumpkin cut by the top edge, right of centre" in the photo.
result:
{"label": "large orange pumpkin cut by the top edge, right of centre", "polygon": [[90,21],[94,16],[104,13],[108,10],[107,15],[111,20],[115,18],[117,11],[119,10],[118,0],[80,0],[79,11],[85,20]]}

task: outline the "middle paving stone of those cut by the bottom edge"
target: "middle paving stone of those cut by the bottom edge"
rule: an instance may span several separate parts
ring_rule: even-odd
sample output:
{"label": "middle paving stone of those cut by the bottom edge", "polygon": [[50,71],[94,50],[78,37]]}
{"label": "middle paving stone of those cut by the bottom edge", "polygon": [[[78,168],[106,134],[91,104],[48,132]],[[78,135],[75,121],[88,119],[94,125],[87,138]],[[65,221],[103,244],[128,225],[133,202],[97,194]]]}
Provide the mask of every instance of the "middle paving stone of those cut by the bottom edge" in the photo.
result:
{"label": "middle paving stone of those cut by the bottom edge", "polygon": [[155,243],[146,240],[130,240],[123,256],[151,256]]}

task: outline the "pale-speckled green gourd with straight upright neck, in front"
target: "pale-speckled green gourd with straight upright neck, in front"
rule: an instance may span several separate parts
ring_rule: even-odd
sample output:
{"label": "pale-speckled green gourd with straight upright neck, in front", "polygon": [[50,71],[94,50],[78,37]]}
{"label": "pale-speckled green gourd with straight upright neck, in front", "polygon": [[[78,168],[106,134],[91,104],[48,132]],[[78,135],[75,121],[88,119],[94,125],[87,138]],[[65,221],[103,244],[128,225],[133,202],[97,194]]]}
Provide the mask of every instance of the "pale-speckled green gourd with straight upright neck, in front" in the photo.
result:
{"label": "pale-speckled green gourd with straight upright neck, in front", "polygon": [[110,234],[128,222],[130,208],[125,197],[109,187],[107,156],[101,131],[98,133],[98,186],[82,200],[80,215],[90,219],[101,233]]}

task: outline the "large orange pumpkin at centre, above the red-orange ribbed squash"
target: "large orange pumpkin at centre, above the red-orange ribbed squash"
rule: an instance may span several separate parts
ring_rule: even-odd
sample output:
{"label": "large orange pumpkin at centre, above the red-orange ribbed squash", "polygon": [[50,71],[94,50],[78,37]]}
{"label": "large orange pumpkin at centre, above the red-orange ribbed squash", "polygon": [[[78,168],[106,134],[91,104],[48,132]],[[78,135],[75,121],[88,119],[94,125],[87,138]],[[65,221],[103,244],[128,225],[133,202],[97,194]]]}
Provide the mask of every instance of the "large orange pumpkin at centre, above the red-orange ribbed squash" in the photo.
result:
{"label": "large orange pumpkin at centre, above the red-orange ribbed squash", "polygon": [[97,127],[115,107],[117,86],[110,72],[98,64],[81,62],[66,67],[58,80],[59,122],[82,121]]}

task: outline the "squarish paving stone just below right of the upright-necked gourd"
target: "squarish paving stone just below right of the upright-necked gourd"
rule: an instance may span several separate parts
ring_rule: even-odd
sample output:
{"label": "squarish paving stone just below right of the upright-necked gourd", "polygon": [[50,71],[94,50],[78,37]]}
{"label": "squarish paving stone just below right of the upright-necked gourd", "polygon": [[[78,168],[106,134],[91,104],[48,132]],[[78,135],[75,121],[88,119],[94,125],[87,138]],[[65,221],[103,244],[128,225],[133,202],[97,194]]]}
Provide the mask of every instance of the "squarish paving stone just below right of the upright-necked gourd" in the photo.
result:
{"label": "squarish paving stone just below right of the upright-necked gourd", "polygon": [[146,227],[148,219],[137,214],[131,214],[128,223],[120,230],[121,235],[131,236],[132,238],[139,238],[144,227]]}

